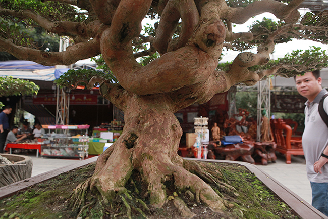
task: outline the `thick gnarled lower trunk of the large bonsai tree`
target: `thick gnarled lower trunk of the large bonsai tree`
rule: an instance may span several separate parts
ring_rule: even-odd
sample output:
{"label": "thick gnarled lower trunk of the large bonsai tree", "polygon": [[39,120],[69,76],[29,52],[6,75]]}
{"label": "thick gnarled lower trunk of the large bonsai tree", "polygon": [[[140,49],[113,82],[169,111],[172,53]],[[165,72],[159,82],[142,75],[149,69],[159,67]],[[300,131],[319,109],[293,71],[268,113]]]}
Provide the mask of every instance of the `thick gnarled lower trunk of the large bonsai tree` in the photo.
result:
{"label": "thick gnarled lower trunk of the large bonsai tree", "polygon": [[117,195],[127,192],[126,184],[137,171],[147,185],[146,199],[152,207],[162,207],[168,201],[172,194],[167,194],[166,185],[170,182],[176,192],[189,190],[196,202],[213,211],[223,211],[223,200],[190,172],[197,168],[177,153],[182,129],[171,111],[173,105],[165,95],[132,94],[124,107],[126,123],[122,135],[100,155],[93,177],[80,185],[77,197],[81,190],[90,189],[99,192],[104,203],[110,205]]}

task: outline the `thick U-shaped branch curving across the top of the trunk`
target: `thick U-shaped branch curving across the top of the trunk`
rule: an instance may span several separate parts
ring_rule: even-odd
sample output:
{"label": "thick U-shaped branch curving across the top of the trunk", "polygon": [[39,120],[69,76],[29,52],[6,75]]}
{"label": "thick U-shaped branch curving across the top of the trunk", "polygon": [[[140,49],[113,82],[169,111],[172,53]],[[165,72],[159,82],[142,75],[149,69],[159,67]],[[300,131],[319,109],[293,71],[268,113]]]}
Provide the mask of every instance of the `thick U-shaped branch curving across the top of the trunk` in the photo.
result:
{"label": "thick U-shaped branch curving across the top of the trunk", "polygon": [[[110,30],[105,30],[101,37],[103,58],[110,63],[120,84],[126,90],[139,95],[171,92],[189,84],[203,82],[216,68],[226,37],[226,28],[212,6],[208,3],[203,7],[204,17],[201,17],[187,46],[166,53],[143,67],[132,57],[132,49],[128,51],[130,42],[127,41],[127,36],[133,36],[130,32],[133,22],[128,22],[127,19],[132,19],[132,16],[122,18],[121,24],[114,22],[113,18]],[[212,13],[213,16],[207,13]],[[126,23],[129,26],[123,25]],[[114,34],[118,30],[124,34]]]}

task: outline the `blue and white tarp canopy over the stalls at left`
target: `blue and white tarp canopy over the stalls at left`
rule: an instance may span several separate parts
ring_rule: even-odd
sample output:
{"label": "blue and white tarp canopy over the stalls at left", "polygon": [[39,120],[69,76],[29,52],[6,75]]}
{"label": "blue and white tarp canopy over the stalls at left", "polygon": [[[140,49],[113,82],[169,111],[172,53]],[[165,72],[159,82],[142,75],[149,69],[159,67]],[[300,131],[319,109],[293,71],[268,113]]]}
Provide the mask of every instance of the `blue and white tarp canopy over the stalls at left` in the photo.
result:
{"label": "blue and white tarp canopy over the stalls at left", "polygon": [[53,81],[67,72],[69,68],[44,66],[31,61],[11,60],[0,62],[0,77],[12,76],[20,79]]}

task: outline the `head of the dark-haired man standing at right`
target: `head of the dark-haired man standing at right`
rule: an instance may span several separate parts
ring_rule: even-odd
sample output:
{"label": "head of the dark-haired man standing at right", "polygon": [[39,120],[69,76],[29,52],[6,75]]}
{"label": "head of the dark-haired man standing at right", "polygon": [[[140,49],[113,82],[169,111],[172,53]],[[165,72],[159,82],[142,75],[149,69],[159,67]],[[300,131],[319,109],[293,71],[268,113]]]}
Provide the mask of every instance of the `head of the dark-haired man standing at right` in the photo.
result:
{"label": "head of the dark-haired man standing at right", "polygon": [[306,72],[304,75],[296,76],[295,82],[298,93],[306,97],[310,102],[312,102],[322,90],[321,77],[315,79],[312,72]]}

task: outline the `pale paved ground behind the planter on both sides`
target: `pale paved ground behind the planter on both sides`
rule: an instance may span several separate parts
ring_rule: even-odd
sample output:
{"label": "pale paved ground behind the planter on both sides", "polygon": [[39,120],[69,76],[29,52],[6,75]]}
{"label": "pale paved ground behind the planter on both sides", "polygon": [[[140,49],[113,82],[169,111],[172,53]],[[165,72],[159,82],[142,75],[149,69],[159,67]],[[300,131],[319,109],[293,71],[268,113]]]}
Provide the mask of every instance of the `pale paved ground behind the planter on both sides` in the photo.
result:
{"label": "pale paved ground behind the planter on both sides", "polygon": [[[32,176],[80,162],[78,159],[36,158],[35,153],[29,153],[28,156],[32,157],[33,160]],[[305,201],[311,203],[311,187],[306,178],[305,159],[303,156],[292,156],[292,163],[286,164],[285,156],[277,155],[276,163],[269,162],[267,166],[257,165],[257,167],[264,170]]]}

